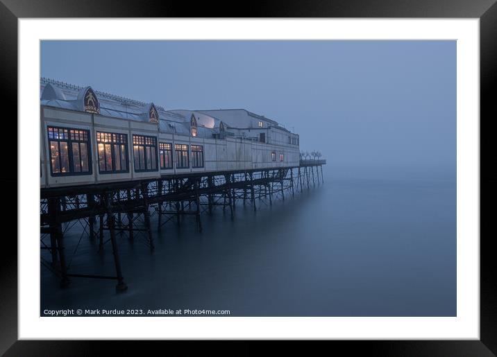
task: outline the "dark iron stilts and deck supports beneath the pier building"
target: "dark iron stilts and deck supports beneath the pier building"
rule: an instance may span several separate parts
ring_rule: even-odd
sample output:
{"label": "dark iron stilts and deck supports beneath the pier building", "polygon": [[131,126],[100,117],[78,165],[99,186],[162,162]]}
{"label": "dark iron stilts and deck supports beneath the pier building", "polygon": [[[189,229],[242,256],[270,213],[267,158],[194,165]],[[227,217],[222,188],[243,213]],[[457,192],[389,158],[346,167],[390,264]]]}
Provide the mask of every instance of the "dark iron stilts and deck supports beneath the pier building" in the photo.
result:
{"label": "dark iron stilts and deck supports beneath the pier building", "polygon": [[[162,175],[160,178],[107,182],[75,186],[58,186],[40,190],[41,257],[44,267],[60,277],[67,287],[73,278],[110,279],[117,281],[117,291],[127,285],[119,261],[117,234],[130,241],[142,241],[153,253],[154,236],[167,224],[181,225],[182,216],[194,216],[196,229],[202,232],[202,216],[217,209],[236,219],[237,206],[243,204],[258,211],[258,202],[271,207],[274,200],[294,198],[305,190],[323,184],[326,160],[300,160],[298,166],[260,168],[242,171],[212,171]],[[151,217],[157,225],[152,227]],[[110,242],[115,275],[90,275],[72,272],[67,265],[65,239],[71,227],[83,228],[79,238],[98,242],[100,253]],[[78,254],[76,250],[72,254]]]}

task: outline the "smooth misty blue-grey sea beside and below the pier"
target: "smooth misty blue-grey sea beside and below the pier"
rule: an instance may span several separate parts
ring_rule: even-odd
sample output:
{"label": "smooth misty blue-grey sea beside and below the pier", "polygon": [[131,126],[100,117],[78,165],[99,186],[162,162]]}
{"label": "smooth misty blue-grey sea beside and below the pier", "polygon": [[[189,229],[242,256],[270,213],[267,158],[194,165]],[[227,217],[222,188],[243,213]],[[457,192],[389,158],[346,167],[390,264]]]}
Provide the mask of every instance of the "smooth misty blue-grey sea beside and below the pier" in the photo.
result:
{"label": "smooth misty blue-grey sea beside and below the pier", "polygon": [[[333,169],[336,170],[335,168]],[[155,252],[118,235],[126,293],[42,267],[41,308],[230,310],[234,316],[454,316],[455,170],[333,173],[285,202],[174,220]],[[337,172],[337,171],[335,171]],[[114,275],[112,250],[67,237],[71,272]]]}

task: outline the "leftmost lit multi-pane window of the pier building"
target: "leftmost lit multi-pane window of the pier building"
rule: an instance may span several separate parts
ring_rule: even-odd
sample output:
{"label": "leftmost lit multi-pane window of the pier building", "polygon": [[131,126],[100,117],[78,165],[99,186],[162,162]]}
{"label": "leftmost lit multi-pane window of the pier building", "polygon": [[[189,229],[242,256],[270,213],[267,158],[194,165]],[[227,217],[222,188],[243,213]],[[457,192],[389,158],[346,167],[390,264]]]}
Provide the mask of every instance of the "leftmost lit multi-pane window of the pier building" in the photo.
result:
{"label": "leftmost lit multi-pane window of the pier building", "polygon": [[52,176],[90,175],[90,132],[88,130],[48,127],[50,171]]}

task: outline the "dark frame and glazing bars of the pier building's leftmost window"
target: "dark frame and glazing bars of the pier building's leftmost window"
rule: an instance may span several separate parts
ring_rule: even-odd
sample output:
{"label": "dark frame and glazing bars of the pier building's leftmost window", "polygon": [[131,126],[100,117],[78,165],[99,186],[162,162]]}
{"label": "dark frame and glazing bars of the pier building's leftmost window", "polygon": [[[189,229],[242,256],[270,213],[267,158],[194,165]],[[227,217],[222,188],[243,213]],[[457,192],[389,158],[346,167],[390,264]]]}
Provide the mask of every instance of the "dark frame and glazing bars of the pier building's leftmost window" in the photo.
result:
{"label": "dark frame and glazing bars of the pier building's leftmost window", "polygon": [[[50,175],[51,177],[65,177],[65,176],[87,176],[87,175],[93,175],[93,163],[92,163],[92,140],[91,140],[91,130],[90,129],[83,129],[83,128],[69,128],[69,127],[64,127],[64,126],[56,126],[56,125],[47,125],[47,141],[48,141],[48,157],[47,161],[50,166]],[[49,135],[49,128],[53,129],[62,129],[62,130],[67,130],[67,139],[51,139]],[[83,130],[86,132],[86,141],[80,141],[80,140],[72,140],[71,139],[71,130]],[[51,141],[56,141],[58,143],[58,151],[59,151],[59,167],[61,166],[60,162],[60,142],[66,142],[67,143],[67,162],[69,163],[69,171],[62,173],[54,173],[53,172],[53,166],[52,166],[52,151],[51,151]],[[87,155],[87,164],[88,164],[88,171],[81,171],[81,172],[76,172],[74,170],[74,153],[72,151],[72,143],[86,143],[86,155]],[[79,146],[80,152],[81,152],[81,145]],[[80,154],[80,161],[81,161],[81,154]]]}

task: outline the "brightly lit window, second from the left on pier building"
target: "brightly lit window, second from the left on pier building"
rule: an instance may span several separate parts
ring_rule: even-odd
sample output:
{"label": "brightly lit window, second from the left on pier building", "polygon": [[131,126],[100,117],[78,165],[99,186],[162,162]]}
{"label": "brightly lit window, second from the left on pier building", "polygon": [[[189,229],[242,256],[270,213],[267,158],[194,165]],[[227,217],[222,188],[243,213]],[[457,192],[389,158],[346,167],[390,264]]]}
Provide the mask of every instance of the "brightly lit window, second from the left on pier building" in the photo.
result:
{"label": "brightly lit window, second from the left on pier building", "polygon": [[99,149],[99,173],[128,172],[128,135],[96,132]]}

